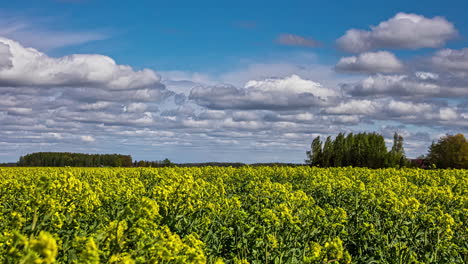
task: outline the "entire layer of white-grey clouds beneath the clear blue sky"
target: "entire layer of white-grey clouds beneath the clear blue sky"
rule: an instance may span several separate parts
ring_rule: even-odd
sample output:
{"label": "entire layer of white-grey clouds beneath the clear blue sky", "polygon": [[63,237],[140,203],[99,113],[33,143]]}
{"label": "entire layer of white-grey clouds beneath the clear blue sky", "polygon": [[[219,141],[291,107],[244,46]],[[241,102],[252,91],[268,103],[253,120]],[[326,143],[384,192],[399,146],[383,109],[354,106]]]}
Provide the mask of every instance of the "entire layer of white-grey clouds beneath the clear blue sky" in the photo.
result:
{"label": "entire layer of white-grey clouds beneath the clear blue sky", "polygon": [[[362,131],[398,131],[414,157],[441,134],[468,131],[468,51],[411,60],[382,49],[441,47],[456,35],[445,18],[399,13],[350,29],[338,43],[359,54],[335,66],[291,53],[216,75],[135,70],[99,54],[54,58],[0,37],[0,159],[77,151],[301,162],[314,136]],[[316,46],[291,34],[278,41]]]}

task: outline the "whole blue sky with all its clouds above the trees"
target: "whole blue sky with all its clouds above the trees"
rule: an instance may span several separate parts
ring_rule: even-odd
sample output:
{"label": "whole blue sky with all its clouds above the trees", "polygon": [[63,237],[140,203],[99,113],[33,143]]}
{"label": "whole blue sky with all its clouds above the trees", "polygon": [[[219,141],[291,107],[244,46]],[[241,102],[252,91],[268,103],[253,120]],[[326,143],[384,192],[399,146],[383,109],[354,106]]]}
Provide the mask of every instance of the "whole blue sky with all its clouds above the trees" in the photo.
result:
{"label": "whole blue sky with all its clouds above the trees", "polygon": [[466,1],[0,4],[0,162],[39,151],[293,162],[468,135]]}

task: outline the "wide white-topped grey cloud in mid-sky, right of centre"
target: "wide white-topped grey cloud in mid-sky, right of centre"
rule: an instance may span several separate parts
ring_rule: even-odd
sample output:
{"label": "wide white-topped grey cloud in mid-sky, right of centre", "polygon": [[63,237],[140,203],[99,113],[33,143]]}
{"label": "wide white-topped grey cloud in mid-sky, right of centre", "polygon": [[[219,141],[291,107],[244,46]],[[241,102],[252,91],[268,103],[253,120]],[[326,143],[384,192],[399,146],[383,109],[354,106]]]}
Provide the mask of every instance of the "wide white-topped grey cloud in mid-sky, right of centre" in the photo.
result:
{"label": "wide white-topped grey cloud in mid-sky, right of centre", "polygon": [[199,86],[189,99],[212,109],[301,109],[323,105],[337,91],[297,75],[251,80],[243,88],[232,85]]}

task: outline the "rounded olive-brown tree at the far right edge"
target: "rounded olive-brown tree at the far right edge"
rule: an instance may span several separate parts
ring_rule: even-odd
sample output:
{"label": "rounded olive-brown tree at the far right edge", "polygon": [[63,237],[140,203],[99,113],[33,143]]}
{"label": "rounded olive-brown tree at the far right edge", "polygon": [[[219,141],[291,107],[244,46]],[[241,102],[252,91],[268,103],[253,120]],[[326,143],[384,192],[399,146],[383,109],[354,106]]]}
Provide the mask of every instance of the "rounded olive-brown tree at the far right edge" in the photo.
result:
{"label": "rounded olive-brown tree at the far right edge", "polygon": [[427,159],[437,168],[468,169],[468,141],[463,134],[447,134],[432,143]]}

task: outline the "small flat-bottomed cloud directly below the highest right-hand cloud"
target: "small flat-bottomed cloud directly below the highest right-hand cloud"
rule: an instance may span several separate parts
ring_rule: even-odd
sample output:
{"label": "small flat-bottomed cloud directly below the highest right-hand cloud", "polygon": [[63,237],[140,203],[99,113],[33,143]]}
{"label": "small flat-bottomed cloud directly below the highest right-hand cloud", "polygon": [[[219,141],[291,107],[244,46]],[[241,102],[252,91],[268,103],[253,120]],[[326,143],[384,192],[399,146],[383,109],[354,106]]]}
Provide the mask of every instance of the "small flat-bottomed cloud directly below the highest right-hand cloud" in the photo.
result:
{"label": "small flat-bottomed cloud directly below the highest right-hand cloud", "polygon": [[355,73],[392,73],[401,71],[403,63],[388,51],[366,52],[341,58],[335,69]]}

